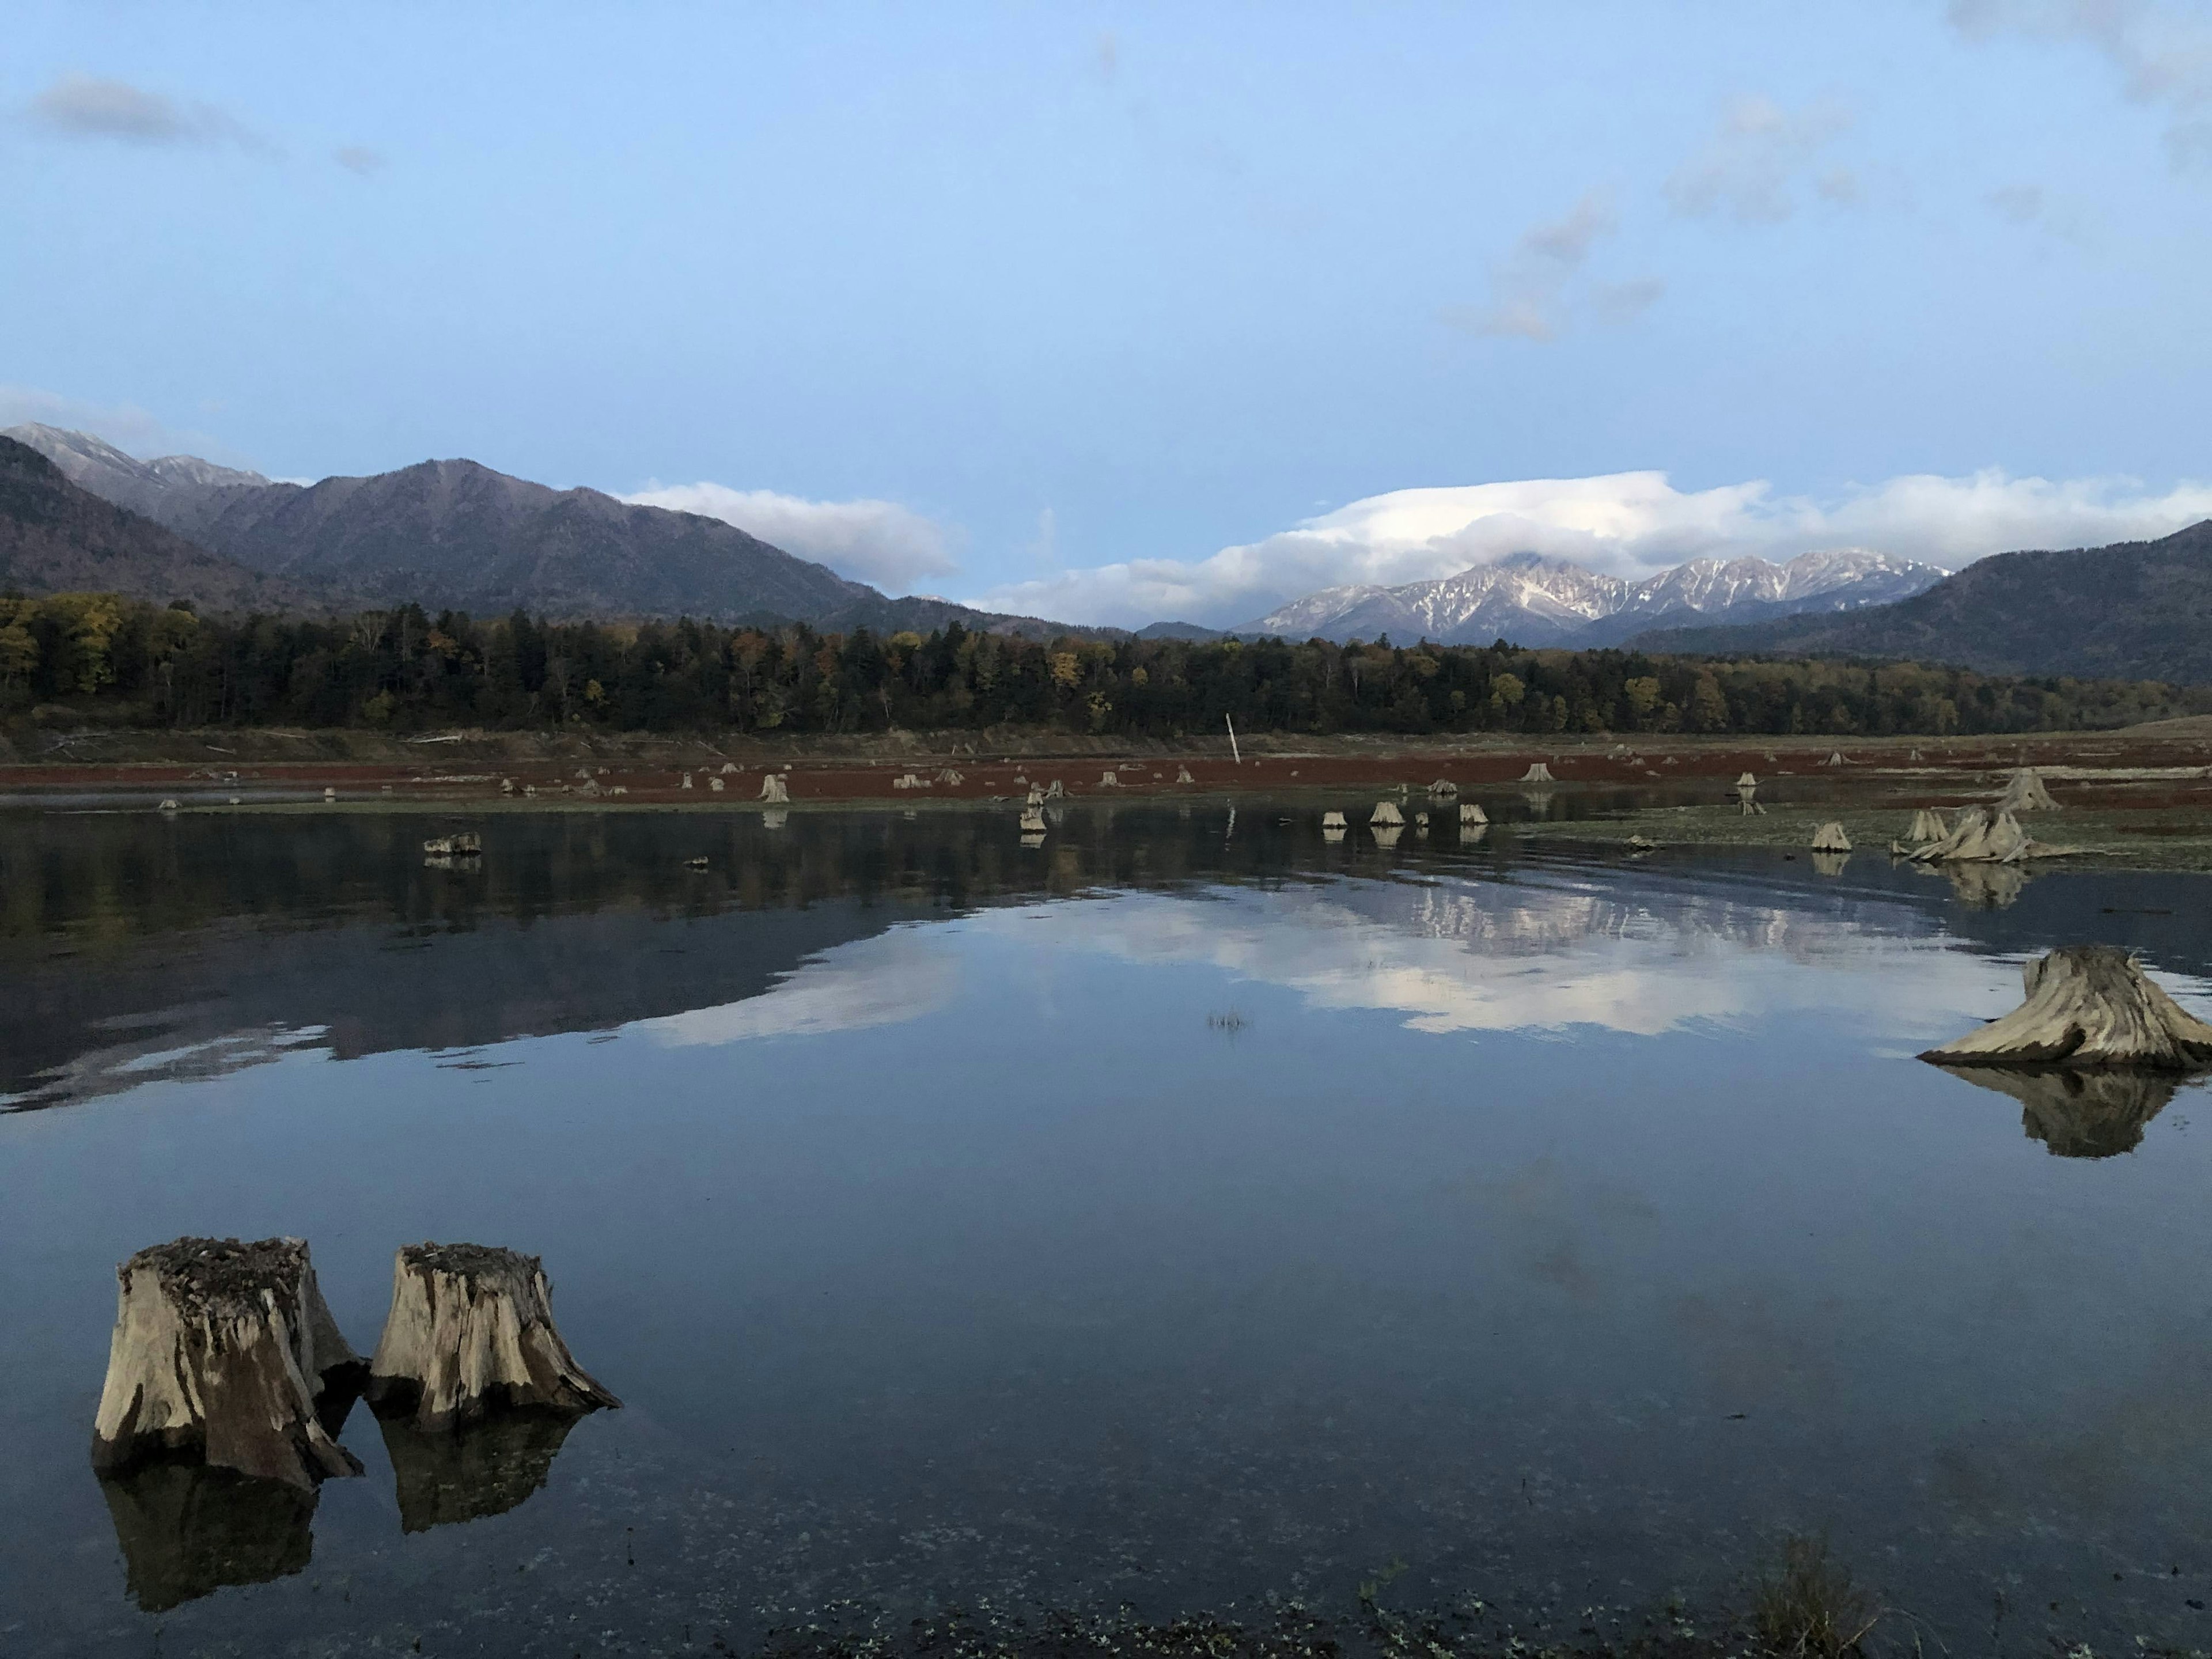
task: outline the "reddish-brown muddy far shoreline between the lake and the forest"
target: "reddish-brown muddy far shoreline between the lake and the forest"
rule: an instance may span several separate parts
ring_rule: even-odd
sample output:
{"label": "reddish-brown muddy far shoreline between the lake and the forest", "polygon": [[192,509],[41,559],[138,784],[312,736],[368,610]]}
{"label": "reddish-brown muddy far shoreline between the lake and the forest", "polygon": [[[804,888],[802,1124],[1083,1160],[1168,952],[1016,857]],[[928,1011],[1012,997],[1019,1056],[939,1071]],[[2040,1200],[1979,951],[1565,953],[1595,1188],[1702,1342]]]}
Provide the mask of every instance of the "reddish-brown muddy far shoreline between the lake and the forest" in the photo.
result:
{"label": "reddish-brown muddy far shoreline between the lake and the forest", "polygon": [[[1234,805],[1265,796],[1354,827],[1380,799],[1413,832],[1427,790],[1489,801],[1522,838],[1668,847],[1809,849],[1840,823],[1858,854],[1885,854],[1911,812],[1986,805],[2037,768],[2057,812],[2037,838],[2075,849],[2064,869],[2212,869],[2212,719],[2017,739],[1398,739],[1261,734],[1239,743],[1126,745],[1055,734],[909,734],[807,743],[529,732],[113,732],[0,761],[0,807],[177,812],[1013,810],[1031,787],[1066,805]],[[91,752],[88,752],[91,750]],[[20,757],[20,745],[18,745]],[[1533,765],[1551,783],[1526,783]],[[1734,781],[1759,779],[1761,816]],[[774,779],[776,783],[770,783]],[[787,794],[774,801],[776,785]],[[763,799],[765,796],[765,799]],[[1444,830],[1438,812],[1438,830]],[[1453,823],[1455,832],[1458,825]]]}

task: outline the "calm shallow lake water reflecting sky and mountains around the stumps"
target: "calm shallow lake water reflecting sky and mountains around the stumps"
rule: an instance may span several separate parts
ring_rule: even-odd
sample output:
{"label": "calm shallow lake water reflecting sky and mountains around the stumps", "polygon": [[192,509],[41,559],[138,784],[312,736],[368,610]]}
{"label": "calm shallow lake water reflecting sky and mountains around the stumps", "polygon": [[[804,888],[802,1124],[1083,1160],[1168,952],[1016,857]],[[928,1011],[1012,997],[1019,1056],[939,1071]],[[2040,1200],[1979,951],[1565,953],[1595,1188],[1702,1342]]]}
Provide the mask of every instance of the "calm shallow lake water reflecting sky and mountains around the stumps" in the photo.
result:
{"label": "calm shallow lake water reflecting sky and mountains around the stumps", "polygon": [[[1823,1528],[1953,1648],[2212,1644],[2201,1091],[1911,1057],[2059,942],[2203,1011],[2208,878],[1263,803],[502,816],[480,869],[434,827],[0,814],[0,1650],[1345,1608],[1389,1562],[1573,1635]],[[113,1265],[186,1232],[307,1237],[363,1352],[396,1245],[542,1254],[624,1409],[356,1407],[314,1504],[102,1486]]]}

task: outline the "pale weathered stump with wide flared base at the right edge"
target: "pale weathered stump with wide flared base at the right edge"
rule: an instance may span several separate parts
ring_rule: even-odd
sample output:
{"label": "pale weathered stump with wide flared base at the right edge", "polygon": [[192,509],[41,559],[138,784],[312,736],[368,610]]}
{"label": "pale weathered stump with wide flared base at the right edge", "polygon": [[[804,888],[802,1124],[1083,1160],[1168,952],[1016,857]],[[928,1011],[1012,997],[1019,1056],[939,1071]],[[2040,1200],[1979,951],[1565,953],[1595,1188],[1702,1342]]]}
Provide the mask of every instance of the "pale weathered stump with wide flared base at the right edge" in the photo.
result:
{"label": "pale weathered stump with wide flared base at the right edge", "polygon": [[1958,1042],[1942,1066],[2212,1066],[2212,1026],[2181,1011],[2115,945],[2066,945],[2022,969],[2028,1000]]}

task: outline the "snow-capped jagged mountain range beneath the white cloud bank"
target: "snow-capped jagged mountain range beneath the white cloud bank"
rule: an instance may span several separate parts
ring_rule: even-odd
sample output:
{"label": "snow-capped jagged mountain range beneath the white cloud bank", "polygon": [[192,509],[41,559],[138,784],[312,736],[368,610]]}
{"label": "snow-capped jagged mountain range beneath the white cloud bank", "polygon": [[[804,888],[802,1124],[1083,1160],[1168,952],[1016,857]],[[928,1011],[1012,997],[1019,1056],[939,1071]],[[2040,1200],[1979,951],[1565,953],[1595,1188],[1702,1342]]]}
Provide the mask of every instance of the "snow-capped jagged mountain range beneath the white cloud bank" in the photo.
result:
{"label": "snow-capped jagged mountain range beneath the white cloud bank", "polygon": [[1568,560],[1513,553],[1495,564],[1400,588],[1323,588],[1270,611],[1239,633],[1292,639],[1436,639],[1447,646],[1511,639],[1520,646],[1610,646],[1646,628],[1690,622],[1765,622],[1798,611],[1856,611],[1909,599],[1949,575],[1933,564],[1863,546],[1761,557],[1688,560],[1641,582]]}

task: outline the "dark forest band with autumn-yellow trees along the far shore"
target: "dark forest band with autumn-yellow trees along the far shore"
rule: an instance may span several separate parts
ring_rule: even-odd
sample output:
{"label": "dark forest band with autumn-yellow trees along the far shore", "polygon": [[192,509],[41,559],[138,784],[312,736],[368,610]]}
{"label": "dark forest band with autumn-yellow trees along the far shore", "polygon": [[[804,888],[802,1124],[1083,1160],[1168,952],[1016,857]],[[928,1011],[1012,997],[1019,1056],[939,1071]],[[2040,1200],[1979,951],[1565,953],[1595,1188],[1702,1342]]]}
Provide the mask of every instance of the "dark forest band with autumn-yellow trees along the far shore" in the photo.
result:
{"label": "dark forest band with autumn-yellow trees along the far shore", "polygon": [[128,726],[880,732],[2039,732],[2212,712],[2212,688],[1637,650],[823,635],[699,622],[199,617],[0,597],[0,712]]}

